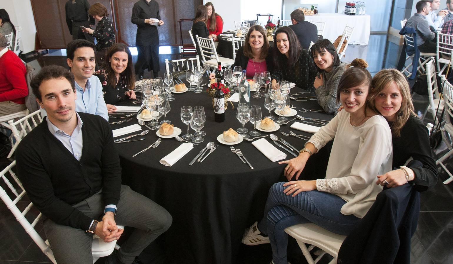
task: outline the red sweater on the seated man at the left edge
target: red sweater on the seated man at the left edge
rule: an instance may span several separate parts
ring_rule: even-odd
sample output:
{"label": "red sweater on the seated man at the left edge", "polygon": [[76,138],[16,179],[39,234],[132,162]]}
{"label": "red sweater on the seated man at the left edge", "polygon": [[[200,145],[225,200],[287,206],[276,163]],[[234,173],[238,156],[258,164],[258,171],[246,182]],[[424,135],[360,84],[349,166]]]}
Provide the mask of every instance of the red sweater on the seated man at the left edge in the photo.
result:
{"label": "red sweater on the seated man at the left edge", "polygon": [[0,57],[0,102],[25,104],[28,95],[26,73],[24,63],[14,52],[8,50]]}

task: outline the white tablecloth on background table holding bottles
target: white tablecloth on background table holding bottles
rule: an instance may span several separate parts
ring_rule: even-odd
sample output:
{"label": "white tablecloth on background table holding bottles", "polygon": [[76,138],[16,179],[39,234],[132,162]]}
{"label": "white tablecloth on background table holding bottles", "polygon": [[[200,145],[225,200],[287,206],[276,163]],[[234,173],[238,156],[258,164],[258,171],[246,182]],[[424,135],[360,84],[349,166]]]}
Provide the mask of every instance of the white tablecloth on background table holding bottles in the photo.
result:
{"label": "white tablecloth on background table holding bottles", "polygon": [[354,27],[349,44],[368,45],[370,38],[370,15],[346,15],[318,13],[305,16],[305,21],[325,22],[323,37],[335,41],[346,25]]}

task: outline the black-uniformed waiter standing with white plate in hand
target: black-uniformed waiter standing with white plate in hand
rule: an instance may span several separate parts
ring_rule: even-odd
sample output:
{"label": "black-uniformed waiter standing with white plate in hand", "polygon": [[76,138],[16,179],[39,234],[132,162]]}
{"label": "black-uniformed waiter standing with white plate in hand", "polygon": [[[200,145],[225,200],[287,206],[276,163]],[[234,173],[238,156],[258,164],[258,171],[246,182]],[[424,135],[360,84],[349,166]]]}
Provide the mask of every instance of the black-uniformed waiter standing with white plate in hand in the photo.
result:
{"label": "black-uniformed waiter standing with white plate in hand", "polygon": [[154,0],[140,0],[135,3],[132,9],[133,24],[137,25],[137,37],[135,45],[137,46],[138,58],[135,64],[135,74],[143,79],[143,71],[153,71],[153,78],[159,73],[159,32],[157,25],[160,27],[164,21],[160,20],[159,4]]}

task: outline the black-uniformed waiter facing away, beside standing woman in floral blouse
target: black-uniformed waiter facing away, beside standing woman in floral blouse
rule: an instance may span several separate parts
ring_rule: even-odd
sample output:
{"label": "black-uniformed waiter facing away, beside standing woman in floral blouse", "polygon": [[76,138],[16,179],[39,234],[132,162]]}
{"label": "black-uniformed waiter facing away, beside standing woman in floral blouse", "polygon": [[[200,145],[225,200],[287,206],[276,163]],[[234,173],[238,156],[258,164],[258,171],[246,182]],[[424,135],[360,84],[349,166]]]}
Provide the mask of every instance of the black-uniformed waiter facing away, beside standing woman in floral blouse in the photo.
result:
{"label": "black-uniformed waiter facing away, beside standing woman in floral blouse", "polygon": [[[69,33],[72,35],[72,40],[86,39],[94,43],[93,35],[83,32],[80,28],[81,26],[85,28],[94,27],[94,17],[88,15],[88,9],[90,9],[90,4],[87,0],[69,0],[66,2],[66,24]],[[90,19],[89,22],[88,19]]]}

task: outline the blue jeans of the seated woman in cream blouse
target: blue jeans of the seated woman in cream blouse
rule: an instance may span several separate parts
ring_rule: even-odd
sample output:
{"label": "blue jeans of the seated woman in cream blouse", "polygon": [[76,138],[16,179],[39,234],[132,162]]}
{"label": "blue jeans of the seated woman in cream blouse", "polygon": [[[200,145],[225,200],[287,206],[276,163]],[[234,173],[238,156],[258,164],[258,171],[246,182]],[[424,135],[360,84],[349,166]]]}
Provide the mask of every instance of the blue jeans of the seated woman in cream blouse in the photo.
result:
{"label": "blue jeans of the seated woman in cream blouse", "polygon": [[301,223],[312,222],[328,231],[347,235],[361,219],[340,212],[346,203],[339,196],[317,190],[301,192],[295,197],[286,195],[284,182],[274,184],[269,190],[265,215],[258,223],[262,234],[269,236],[272,259],[275,264],[287,264],[288,234],[284,229]]}

